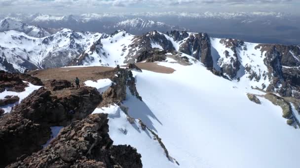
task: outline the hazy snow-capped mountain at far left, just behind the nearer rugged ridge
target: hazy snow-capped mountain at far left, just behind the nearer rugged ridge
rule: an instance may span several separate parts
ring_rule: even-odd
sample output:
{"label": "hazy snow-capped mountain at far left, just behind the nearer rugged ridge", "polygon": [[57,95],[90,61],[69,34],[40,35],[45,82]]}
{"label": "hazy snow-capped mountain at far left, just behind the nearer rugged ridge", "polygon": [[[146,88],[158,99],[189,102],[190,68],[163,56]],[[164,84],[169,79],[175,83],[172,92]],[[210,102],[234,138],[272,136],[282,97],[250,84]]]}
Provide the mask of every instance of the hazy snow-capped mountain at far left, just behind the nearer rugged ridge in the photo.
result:
{"label": "hazy snow-capped mountain at far left, just behind the nearer rugged ridge", "polygon": [[51,28],[40,28],[39,26],[29,26],[22,23],[21,21],[16,21],[13,19],[4,19],[0,21],[0,31],[16,30],[24,32],[25,34],[32,37],[46,37],[53,34],[54,29]]}

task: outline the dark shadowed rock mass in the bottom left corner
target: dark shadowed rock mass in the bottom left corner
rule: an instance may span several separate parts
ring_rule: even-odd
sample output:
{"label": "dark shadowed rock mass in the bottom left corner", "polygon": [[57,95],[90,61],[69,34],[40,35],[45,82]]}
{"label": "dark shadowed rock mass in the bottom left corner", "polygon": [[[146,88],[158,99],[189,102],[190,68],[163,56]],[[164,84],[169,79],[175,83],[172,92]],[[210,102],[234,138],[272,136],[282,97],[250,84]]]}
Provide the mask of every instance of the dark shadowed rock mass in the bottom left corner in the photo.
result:
{"label": "dark shadowed rock mass in the bottom left corner", "polygon": [[9,113],[0,119],[0,167],[14,162],[22,155],[29,155],[42,149],[50,137],[50,128]]}

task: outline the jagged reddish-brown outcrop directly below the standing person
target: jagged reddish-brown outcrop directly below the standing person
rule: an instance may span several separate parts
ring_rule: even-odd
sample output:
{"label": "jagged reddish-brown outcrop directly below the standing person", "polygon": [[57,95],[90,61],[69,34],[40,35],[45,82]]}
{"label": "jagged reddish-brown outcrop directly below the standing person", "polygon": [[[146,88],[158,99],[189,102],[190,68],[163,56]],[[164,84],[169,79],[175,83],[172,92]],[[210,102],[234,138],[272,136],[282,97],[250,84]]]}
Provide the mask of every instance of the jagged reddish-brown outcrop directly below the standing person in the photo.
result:
{"label": "jagged reddish-brown outcrop directly below the standing person", "polygon": [[91,114],[101,101],[100,93],[93,87],[68,90],[59,98],[41,87],[14,107],[12,112],[37,123],[66,126]]}

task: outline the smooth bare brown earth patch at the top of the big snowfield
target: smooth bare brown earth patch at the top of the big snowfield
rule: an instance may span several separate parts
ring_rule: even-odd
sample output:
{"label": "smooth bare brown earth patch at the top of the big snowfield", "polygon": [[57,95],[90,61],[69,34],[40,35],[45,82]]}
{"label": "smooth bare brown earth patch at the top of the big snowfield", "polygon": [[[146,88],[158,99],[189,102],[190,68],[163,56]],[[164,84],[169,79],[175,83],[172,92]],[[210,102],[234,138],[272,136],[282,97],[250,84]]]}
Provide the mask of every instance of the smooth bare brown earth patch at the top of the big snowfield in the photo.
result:
{"label": "smooth bare brown earth patch at the top of the big snowfield", "polygon": [[[158,65],[156,62],[138,62],[135,64],[141,69],[157,73],[172,74],[175,71],[173,68]],[[123,66],[128,67],[128,64]]]}

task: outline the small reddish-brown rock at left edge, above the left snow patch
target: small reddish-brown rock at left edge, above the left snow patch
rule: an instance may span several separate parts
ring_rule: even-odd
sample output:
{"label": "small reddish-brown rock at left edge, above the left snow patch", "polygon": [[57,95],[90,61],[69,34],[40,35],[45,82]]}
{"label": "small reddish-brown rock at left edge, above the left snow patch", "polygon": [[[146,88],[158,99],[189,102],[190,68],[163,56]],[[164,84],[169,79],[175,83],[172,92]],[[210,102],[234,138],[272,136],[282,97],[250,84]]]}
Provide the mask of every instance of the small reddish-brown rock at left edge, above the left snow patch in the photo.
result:
{"label": "small reddish-brown rock at left edge, above the left snow patch", "polygon": [[28,84],[24,83],[17,74],[11,74],[0,70],[0,92],[8,91],[22,92]]}

